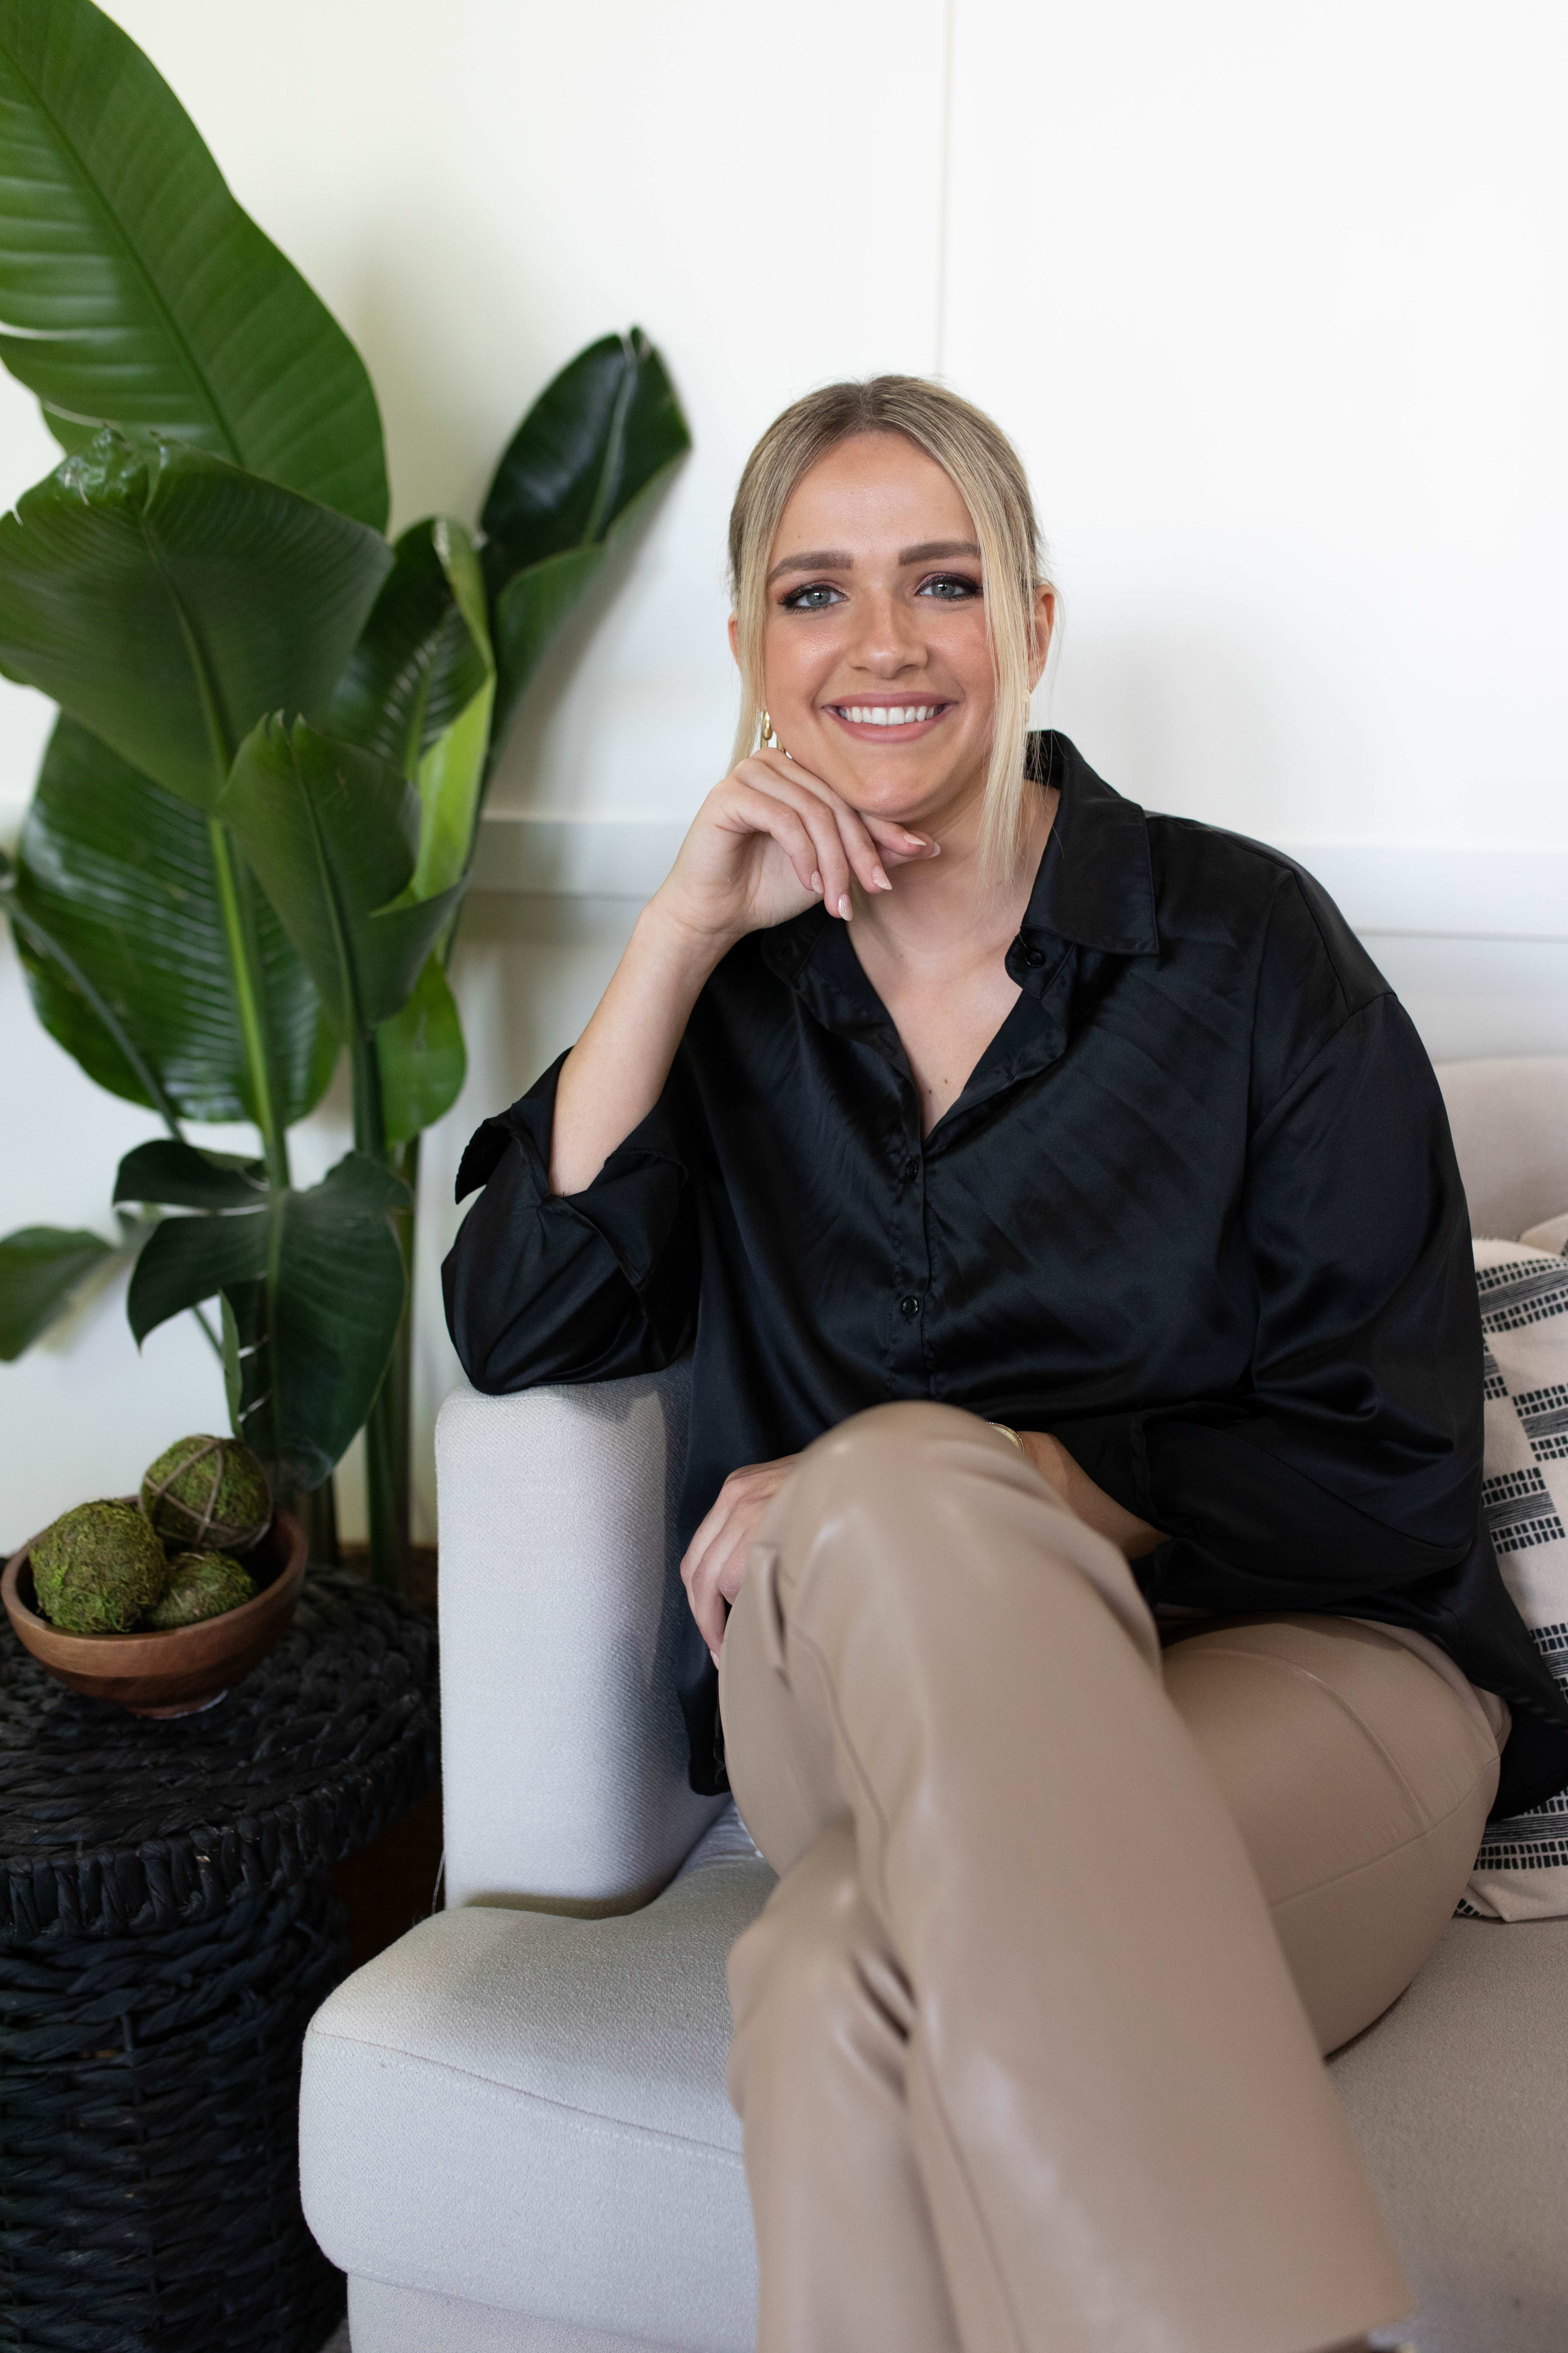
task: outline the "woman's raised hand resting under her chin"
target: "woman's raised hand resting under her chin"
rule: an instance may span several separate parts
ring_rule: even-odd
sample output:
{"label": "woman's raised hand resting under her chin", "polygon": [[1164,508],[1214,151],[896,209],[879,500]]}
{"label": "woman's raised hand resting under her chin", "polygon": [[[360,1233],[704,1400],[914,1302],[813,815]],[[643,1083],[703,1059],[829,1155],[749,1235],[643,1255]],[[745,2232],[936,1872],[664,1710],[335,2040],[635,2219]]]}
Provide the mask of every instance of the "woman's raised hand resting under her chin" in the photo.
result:
{"label": "woman's raised hand resting under her chin", "polygon": [[651,908],[693,939],[729,946],[813,899],[849,920],[851,882],[884,892],[889,868],[933,856],[929,833],[860,816],[785,753],[757,751],[715,784]]}

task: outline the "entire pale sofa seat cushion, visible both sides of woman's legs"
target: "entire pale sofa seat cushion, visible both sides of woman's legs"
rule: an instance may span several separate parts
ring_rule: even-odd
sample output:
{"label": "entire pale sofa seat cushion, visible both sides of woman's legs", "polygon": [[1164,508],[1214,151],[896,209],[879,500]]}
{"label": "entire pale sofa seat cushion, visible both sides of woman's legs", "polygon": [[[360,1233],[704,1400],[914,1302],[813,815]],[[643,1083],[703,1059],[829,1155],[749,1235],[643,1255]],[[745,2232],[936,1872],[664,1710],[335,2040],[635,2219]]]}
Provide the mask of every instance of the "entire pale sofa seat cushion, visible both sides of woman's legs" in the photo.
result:
{"label": "entire pale sofa seat cushion, visible both sides of woman's legs", "polygon": [[[773,1873],[724,1824],[693,1861],[614,1920],[440,1913],[331,1995],[306,2040],[301,2179],[334,2264],[569,2329],[750,2353],[724,1958]],[[1561,2353],[1568,1920],[1450,1922],[1331,2068],[1422,2353]]]}

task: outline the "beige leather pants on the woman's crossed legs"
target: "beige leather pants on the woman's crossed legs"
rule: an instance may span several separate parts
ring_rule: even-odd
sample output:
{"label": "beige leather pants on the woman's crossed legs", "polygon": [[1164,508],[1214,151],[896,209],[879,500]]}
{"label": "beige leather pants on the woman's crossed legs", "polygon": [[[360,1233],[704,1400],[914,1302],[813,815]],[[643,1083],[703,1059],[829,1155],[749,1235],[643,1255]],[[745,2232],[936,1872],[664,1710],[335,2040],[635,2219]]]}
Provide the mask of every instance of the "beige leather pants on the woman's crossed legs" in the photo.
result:
{"label": "beige leather pants on the woman's crossed legs", "polygon": [[889,1405],[776,1497],[719,1678],[780,1873],[729,1969],[759,2353],[1307,2353],[1408,2308],[1319,2049],[1465,1885],[1497,1732],[1458,1673],[1298,1617],[1161,1675],[1016,1447]]}

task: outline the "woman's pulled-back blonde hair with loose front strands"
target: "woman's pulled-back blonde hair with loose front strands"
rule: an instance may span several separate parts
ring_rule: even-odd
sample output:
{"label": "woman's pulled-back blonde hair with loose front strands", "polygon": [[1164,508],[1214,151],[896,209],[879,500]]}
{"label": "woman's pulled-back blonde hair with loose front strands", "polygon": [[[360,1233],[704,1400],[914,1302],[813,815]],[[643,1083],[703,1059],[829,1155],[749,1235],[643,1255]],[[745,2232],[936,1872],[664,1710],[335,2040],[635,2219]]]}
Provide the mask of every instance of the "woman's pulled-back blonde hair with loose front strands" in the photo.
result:
{"label": "woman's pulled-back blonde hair with loose front strands", "polygon": [[900,433],[924,449],[952,480],[976,527],[985,635],[997,680],[980,873],[999,882],[1013,871],[1023,842],[1030,654],[1034,598],[1048,586],[1046,560],[1018,452],[1001,426],[940,384],[924,376],[827,384],[776,416],[748,456],[729,515],[729,584],[741,656],[741,722],[731,765],[757,748],[762,725],[766,565],[778,522],[802,475],[856,433]]}

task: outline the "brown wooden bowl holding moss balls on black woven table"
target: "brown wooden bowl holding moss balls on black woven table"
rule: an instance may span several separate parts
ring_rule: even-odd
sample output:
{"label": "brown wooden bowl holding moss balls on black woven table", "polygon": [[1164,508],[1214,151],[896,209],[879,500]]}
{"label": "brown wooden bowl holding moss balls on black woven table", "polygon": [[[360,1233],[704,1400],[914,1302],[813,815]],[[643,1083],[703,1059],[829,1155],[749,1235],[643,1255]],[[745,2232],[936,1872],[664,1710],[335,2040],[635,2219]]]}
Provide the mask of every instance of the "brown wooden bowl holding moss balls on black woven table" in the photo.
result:
{"label": "brown wooden bowl holding moss balls on black woven table", "polygon": [[261,1586],[252,1600],[167,1633],[66,1633],[52,1626],[38,1614],[33,1544],[7,1560],[0,1598],[38,1664],[73,1692],[113,1699],[132,1715],[193,1715],[249,1675],[289,1631],[306,1577],[306,1532],[292,1511],[273,1513],[244,1567]]}

